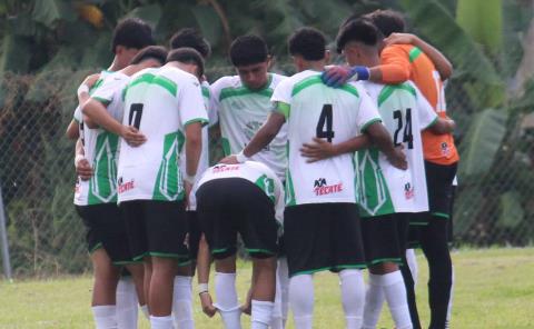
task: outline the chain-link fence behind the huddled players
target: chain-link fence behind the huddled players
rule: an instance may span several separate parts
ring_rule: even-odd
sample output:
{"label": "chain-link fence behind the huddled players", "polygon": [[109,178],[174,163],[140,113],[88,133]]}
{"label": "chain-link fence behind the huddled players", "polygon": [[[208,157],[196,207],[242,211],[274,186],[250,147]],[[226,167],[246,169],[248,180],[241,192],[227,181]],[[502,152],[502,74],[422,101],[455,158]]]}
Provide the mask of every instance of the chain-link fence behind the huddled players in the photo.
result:
{"label": "chain-link fence behind the huddled players", "polygon": [[[277,71],[289,67],[283,63]],[[76,88],[90,72],[7,74],[1,81],[0,185],[16,277],[89,270],[83,227],[72,205],[75,142],[65,137],[65,131],[76,107]],[[214,81],[233,72],[229,67],[216,68],[208,71],[208,77]],[[468,153],[469,161],[477,161],[467,163],[476,170],[461,168],[454,211],[456,243],[532,243],[534,118],[527,114],[532,104],[510,110],[507,116],[500,116],[504,109],[490,111],[494,117],[487,121],[466,93],[467,82],[457,74],[447,87],[448,110],[458,123],[461,154],[465,159]],[[473,131],[478,126],[473,122],[482,120],[483,127],[485,119],[502,136],[490,140],[496,143],[492,154],[472,147],[481,141]],[[211,131],[212,161],[221,156],[217,136]]]}

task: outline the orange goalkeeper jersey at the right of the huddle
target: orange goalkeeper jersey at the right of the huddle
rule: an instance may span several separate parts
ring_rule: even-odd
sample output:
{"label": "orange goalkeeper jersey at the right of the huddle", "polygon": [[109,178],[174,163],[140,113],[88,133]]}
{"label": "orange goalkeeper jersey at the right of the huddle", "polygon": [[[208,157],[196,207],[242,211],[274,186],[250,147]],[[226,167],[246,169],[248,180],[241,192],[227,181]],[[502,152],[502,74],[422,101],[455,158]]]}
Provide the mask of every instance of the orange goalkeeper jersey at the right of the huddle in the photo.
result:
{"label": "orange goalkeeper jersey at the right of the huddle", "polygon": [[[412,80],[426,97],[436,113],[446,118],[445,90],[442,78],[431,59],[412,44],[393,44],[380,53],[383,82],[387,84]],[[435,134],[423,131],[425,160],[437,164],[452,164],[459,160],[452,133]]]}

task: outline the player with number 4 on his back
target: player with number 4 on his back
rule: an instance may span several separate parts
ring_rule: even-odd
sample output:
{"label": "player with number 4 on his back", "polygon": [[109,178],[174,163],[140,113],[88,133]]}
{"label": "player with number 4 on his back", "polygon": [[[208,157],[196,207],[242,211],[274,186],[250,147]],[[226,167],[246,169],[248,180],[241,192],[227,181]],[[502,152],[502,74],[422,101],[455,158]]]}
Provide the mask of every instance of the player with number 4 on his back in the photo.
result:
{"label": "player with number 4 on his back", "polygon": [[313,327],[313,275],[339,272],[347,328],[360,328],[364,307],[364,251],[356,207],[353,157],[343,154],[310,163],[300,146],[314,139],[345,141],[368,133],[387,158],[406,168],[365,90],[347,84],[325,86],[320,73],[328,60],[322,32],[303,28],[289,39],[298,73],[276,88],[275,110],[253,140],[227,162],[244,162],[288,124],[288,169],[284,239],[289,266],[289,303],[298,329]]}

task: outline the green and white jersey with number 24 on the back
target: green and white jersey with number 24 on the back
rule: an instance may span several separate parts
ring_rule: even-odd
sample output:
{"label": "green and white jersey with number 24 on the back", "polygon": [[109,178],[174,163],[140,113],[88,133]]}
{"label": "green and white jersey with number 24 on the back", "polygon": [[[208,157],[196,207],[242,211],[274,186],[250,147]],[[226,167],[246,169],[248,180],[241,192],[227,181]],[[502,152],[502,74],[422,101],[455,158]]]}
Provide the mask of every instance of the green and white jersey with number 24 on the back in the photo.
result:
{"label": "green and white jersey with number 24 on the back", "polygon": [[408,162],[408,169],[400,170],[376,148],[357,152],[360,216],[428,211],[421,130],[436,122],[437,114],[412,82],[359,83],[376,101],[384,126],[394,144],[404,147]]}

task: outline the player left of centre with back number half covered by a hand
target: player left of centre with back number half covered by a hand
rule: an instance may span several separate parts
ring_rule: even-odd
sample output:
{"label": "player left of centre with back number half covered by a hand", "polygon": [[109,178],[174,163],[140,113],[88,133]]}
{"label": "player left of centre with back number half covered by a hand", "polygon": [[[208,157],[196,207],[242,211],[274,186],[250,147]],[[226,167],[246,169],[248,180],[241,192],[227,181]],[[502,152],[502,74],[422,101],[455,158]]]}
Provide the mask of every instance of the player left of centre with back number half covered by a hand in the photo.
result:
{"label": "player left of centre with back number half covered by a hand", "polygon": [[[185,201],[197,175],[201,128],[208,118],[198,78],[179,69],[177,50],[160,69],[132,77],[125,91],[123,124],[147,138],[120,144],[118,181],[135,259],[145,261],[151,328],[172,328],[172,287],[178,263],[189,259]],[[180,150],[186,170],[180,173]]]}

